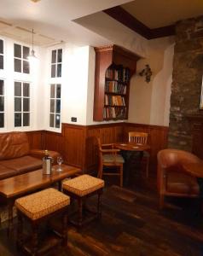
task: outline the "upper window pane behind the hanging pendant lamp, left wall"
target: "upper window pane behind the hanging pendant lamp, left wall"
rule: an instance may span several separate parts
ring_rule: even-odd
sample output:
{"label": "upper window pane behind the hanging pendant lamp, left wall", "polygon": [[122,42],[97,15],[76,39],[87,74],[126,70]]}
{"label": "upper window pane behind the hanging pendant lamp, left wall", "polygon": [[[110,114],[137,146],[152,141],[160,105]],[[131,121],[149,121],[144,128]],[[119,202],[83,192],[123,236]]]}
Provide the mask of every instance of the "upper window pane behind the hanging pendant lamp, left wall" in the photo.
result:
{"label": "upper window pane behind the hanging pendant lamp, left wall", "polygon": [[14,44],[14,72],[30,73],[30,64],[27,60],[30,48]]}

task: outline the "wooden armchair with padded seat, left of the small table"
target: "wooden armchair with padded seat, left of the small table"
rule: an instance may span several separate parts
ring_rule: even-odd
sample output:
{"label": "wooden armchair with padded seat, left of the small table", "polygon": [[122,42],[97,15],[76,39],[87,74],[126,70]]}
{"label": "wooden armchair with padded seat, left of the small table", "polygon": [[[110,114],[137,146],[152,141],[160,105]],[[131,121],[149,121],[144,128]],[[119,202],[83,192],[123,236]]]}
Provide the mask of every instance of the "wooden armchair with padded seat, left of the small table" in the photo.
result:
{"label": "wooden armchair with padded seat, left of the small table", "polygon": [[[97,177],[102,178],[103,175],[119,176],[120,187],[123,187],[123,165],[125,160],[122,155],[118,154],[120,150],[113,148],[113,143],[102,144],[99,137],[97,137],[97,143],[99,148],[99,170]],[[115,167],[119,169],[119,172],[104,172],[104,167]]]}

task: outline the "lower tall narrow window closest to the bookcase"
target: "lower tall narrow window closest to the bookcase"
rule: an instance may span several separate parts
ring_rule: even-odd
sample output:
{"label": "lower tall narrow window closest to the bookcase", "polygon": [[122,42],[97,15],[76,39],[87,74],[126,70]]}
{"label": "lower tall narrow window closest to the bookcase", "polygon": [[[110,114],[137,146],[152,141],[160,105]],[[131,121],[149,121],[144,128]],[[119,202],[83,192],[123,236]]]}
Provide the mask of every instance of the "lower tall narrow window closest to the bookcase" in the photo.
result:
{"label": "lower tall narrow window closest to the bookcase", "polygon": [[50,84],[49,126],[60,128],[61,124],[61,84]]}

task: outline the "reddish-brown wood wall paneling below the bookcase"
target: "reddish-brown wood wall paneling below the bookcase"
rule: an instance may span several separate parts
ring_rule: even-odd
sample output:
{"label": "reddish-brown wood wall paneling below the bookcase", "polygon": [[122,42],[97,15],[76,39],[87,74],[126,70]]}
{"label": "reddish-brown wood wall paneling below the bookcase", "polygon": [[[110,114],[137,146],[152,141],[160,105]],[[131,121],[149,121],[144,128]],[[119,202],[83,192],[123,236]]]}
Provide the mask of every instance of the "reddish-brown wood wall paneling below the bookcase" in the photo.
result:
{"label": "reddish-brown wood wall paneling below the bookcase", "polygon": [[44,148],[60,152],[68,165],[78,166],[84,172],[97,172],[98,149],[96,137],[102,143],[128,141],[129,131],[148,132],[151,145],[150,174],[156,174],[156,158],[160,149],[167,147],[168,128],[156,125],[113,123],[102,125],[62,124],[62,132],[44,131]]}

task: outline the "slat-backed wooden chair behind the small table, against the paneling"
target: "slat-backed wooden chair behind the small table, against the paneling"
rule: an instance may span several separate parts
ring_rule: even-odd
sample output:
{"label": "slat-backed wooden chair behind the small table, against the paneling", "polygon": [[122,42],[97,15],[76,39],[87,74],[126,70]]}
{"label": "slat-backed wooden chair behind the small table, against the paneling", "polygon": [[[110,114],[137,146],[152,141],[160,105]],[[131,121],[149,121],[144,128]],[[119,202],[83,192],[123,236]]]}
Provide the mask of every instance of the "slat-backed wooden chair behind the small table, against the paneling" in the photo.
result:
{"label": "slat-backed wooden chair behind the small table, against the paneling", "polygon": [[[129,143],[137,144],[147,144],[148,143],[148,133],[139,131],[129,131],[128,133]],[[142,161],[146,161],[146,177],[148,177],[148,166],[149,166],[149,153],[142,152]]]}

